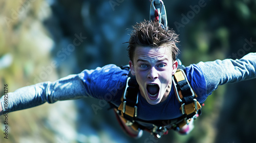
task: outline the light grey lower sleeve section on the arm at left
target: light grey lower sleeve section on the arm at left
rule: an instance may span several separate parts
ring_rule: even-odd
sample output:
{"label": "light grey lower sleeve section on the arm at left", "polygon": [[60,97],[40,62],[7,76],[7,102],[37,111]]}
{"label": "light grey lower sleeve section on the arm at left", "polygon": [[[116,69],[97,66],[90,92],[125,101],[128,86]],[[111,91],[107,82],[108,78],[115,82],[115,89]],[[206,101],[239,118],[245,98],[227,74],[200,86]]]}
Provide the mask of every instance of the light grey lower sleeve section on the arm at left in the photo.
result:
{"label": "light grey lower sleeve section on the arm at left", "polygon": [[61,100],[84,97],[83,82],[78,75],[70,75],[55,82],[42,82],[25,86],[8,93],[8,108],[4,107],[4,96],[0,99],[0,114],[22,110]]}

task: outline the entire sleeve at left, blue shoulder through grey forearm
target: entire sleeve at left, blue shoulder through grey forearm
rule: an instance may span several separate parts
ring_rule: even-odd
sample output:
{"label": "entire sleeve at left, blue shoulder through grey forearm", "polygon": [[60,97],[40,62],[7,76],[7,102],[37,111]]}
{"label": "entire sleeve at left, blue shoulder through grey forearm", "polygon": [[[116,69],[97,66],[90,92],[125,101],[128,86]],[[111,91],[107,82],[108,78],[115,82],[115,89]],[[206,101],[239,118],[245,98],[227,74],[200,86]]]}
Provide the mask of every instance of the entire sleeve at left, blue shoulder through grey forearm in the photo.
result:
{"label": "entire sleeve at left, blue shoulder through grey forearm", "polygon": [[[119,93],[119,90],[115,91],[114,89],[119,89],[123,86],[123,82],[125,83],[126,80],[125,75],[127,75],[126,71],[121,70],[119,67],[106,65],[95,70],[83,70],[80,74],[69,75],[55,82],[42,82],[19,88],[14,92],[8,93],[8,108],[3,108],[3,110],[12,112],[38,106],[45,102],[54,103],[56,101],[84,97],[112,101],[115,99],[116,94]],[[119,82],[112,83],[116,81]],[[116,88],[112,87],[114,85],[116,85]],[[111,97],[110,94],[112,95]],[[0,99],[0,102],[4,107],[4,96]]]}

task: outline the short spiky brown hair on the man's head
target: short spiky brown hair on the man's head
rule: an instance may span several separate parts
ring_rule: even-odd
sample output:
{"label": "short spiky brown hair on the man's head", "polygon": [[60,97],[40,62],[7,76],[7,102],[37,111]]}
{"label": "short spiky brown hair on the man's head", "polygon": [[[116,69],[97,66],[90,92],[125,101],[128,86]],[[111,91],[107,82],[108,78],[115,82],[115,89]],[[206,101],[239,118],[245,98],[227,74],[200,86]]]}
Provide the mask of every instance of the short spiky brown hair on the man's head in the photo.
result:
{"label": "short spiky brown hair on the man's head", "polygon": [[127,47],[130,60],[133,62],[134,51],[137,46],[159,47],[169,46],[172,50],[172,58],[176,60],[179,49],[176,44],[179,42],[178,35],[174,30],[164,30],[159,22],[144,20],[133,26],[129,46]]}

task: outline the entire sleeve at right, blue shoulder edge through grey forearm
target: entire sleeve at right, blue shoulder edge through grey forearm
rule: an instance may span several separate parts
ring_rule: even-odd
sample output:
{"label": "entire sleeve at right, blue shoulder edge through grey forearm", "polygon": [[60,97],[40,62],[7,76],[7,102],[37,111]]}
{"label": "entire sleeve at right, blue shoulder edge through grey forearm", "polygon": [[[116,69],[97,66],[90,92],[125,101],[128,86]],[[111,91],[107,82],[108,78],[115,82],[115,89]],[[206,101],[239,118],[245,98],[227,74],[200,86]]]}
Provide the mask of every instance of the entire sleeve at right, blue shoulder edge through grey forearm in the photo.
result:
{"label": "entire sleeve at right, blue shoulder edge through grey forearm", "polygon": [[256,78],[256,53],[241,59],[225,59],[191,64],[185,68],[187,79],[203,103],[219,85]]}

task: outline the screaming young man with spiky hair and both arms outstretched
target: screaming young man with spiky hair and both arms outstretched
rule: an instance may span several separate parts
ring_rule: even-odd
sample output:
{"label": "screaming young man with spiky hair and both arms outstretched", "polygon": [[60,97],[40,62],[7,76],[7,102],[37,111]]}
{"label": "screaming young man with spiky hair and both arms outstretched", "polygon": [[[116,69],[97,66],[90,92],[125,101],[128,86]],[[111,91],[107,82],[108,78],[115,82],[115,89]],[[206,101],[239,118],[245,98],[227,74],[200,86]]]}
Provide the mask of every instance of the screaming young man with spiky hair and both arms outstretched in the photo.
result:
{"label": "screaming young man with spiky hair and both arms outstretched", "polygon": [[[8,109],[2,108],[5,104],[4,97],[0,99],[1,114],[31,108],[45,102],[54,103],[90,96],[106,100],[116,108],[123,107],[119,110],[123,112],[119,112],[121,117],[118,117],[118,120],[123,129],[133,137],[141,135],[140,129],[150,130],[153,133],[166,133],[165,127],[156,126],[151,121],[154,121],[153,123],[156,123],[155,121],[173,122],[187,114],[181,110],[183,107],[177,100],[179,93],[176,92],[176,83],[173,82],[173,76],[178,68],[176,60],[179,53],[176,46],[178,35],[172,30],[163,30],[158,22],[143,21],[133,28],[128,47],[129,65],[131,74],[135,76],[138,83],[138,97],[134,106],[136,110],[131,115],[132,120],[131,116],[128,117],[129,119],[124,119],[126,115],[123,115],[126,114],[124,107],[127,107],[123,102],[126,100],[123,92],[127,77],[130,77],[129,70],[113,64],[98,67],[95,70],[86,69],[80,74],[70,75],[55,82],[43,82],[17,89],[9,93]],[[218,85],[256,78],[255,67],[256,53],[250,53],[239,60],[200,62],[185,67],[185,77],[193,88],[191,92],[195,92],[192,100],[196,102],[192,103],[193,107],[200,106],[197,102],[202,104]],[[113,89],[116,91],[115,94],[112,92]],[[135,93],[137,95],[137,92]],[[186,95],[183,94],[183,96]],[[129,109],[134,108],[126,108],[126,110]],[[197,109],[195,112],[194,110],[193,115],[196,115]],[[190,118],[189,121],[192,123],[193,117]],[[131,126],[135,123],[139,128],[135,129]],[[167,125],[166,122],[161,123],[164,126]],[[190,123],[181,126],[179,132],[189,132]],[[173,125],[168,129],[174,128]]]}

